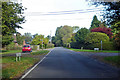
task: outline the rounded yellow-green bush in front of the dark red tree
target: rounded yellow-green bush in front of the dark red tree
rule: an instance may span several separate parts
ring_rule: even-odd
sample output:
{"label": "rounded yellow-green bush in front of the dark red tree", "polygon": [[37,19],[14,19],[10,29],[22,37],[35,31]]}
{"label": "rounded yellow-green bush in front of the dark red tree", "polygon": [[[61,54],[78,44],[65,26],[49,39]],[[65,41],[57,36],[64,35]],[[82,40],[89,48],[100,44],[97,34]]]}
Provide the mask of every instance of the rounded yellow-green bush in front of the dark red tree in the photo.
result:
{"label": "rounded yellow-green bush in front of the dark red tree", "polygon": [[109,37],[105,33],[91,32],[85,39],[86,44],[95,44],[100,42],[109,42]]}

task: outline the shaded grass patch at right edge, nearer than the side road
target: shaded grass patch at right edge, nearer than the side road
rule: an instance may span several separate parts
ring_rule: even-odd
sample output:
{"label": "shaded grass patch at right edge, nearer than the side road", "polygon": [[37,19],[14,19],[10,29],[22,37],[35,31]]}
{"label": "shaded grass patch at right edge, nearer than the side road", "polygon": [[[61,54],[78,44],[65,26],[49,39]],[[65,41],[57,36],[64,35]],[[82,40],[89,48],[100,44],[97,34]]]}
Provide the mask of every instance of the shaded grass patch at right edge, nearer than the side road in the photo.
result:
{"label": "shaded grass patch at right edge, nearer than the side road", "polygon": [[109,56],[105,57],[104,60],[112,65],[120,67],[120,56]]}

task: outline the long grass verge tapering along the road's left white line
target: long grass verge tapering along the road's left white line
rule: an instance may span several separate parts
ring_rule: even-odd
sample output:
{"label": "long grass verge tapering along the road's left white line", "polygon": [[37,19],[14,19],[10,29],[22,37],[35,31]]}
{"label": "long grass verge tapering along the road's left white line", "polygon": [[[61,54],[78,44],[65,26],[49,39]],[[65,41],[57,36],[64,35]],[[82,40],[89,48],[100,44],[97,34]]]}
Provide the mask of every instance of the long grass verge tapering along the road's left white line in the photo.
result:
{"label": "long grass verge tapering along the road's left white line", "polygon": [[28,54],[29,56],[23,55],[21,61],[16,61],[16,58],[13,56],[2,57],[2,77],[8,79],[19,78],[24,71],[40,60],[39,56],[46,55],[48,52],[43,50]]}

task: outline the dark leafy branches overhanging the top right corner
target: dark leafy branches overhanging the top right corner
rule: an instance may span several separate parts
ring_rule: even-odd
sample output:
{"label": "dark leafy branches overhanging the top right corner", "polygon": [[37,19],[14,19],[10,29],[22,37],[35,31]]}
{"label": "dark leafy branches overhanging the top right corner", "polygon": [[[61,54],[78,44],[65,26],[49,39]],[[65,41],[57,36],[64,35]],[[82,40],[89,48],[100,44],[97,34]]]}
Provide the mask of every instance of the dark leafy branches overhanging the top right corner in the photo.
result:
{"label": "dark leafy branches overhanging the top right corner", "polygon": [[[106,21],[107,25],[114,25],[120,21],[120,1],[118,2],[93,2],[92,5],[104,6],[104,12],[102,14],[103,21]],[[120,25],[119,25],[120,26]]]}

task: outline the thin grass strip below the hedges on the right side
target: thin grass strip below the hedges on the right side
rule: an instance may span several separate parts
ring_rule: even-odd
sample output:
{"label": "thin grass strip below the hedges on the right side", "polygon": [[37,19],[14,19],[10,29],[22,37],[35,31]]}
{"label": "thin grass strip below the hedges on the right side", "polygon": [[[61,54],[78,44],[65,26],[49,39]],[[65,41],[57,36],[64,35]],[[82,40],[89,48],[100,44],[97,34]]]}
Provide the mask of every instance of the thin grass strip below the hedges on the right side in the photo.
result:
{"label": "thin grass strip below the hedges on the right side", "polygon": [[105,52],[105,53],[119,53],[120,51],[107,51],[107,50],[99,50],[99,51],[94,51],[94,50],[87,50],[87,49],[73,49],[73,48],[68,48],[70,50],[73,50],[73,51],[77,51],[77,52]]}

